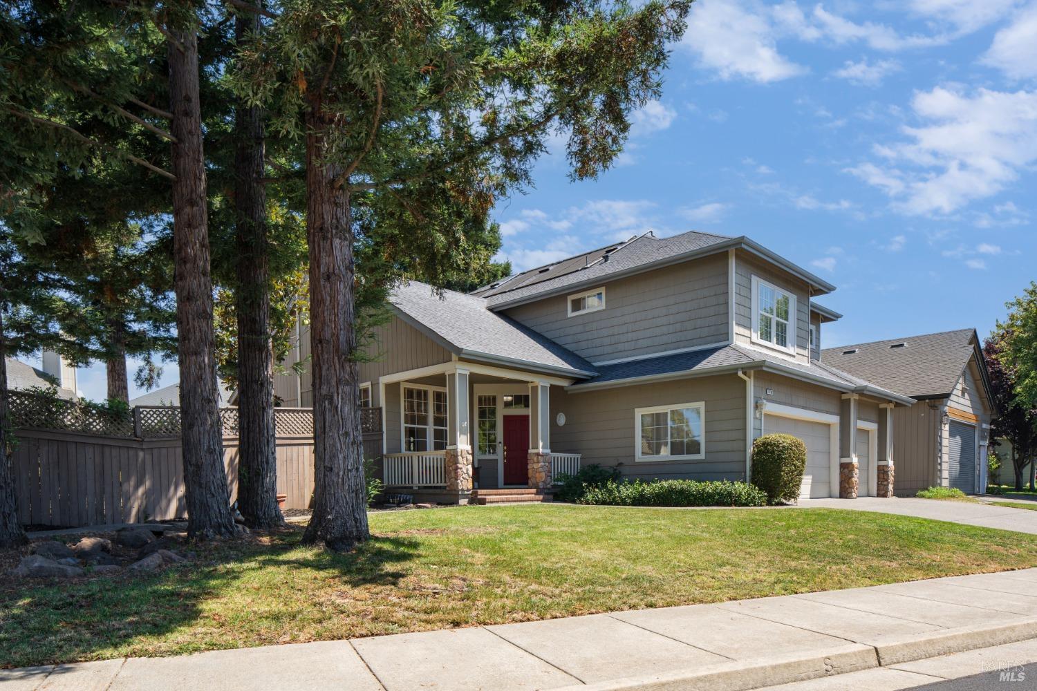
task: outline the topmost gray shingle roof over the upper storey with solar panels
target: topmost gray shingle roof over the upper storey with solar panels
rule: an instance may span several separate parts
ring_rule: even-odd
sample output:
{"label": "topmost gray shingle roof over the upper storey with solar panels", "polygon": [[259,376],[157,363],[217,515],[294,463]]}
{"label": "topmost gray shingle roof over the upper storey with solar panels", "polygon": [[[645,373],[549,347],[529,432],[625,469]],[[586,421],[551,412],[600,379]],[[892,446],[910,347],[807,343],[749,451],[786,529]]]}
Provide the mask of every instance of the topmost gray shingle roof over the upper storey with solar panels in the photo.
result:
{"label": "topmost gray shingle roof over the upper storey with solar panels", "polygon": [[793,264],[748,237],[727,237],[690,231],[670,237],[645,233],[626,242],[606,246],[589,253],[568,257],[554,264],[515,273],[472,294],[486,298],[492,310],[573,292],[580,287],[633,276],[730,249],[742,249],[778,264],[809,283],[815,295],[835,290],[835,286]]}

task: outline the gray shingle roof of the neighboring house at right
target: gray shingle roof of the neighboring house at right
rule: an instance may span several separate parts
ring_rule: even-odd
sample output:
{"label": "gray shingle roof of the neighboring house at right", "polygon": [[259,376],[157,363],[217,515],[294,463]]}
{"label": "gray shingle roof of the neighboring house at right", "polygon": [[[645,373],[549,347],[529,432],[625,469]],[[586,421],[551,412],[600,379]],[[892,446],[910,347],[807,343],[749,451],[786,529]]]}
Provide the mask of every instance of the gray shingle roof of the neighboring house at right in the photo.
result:
{"label": "gray shingle roof of the neighboring house at right", "polygon": [[[946,398],[954,391],[969,359],[978,353],[978,342],[976,329],[959,328],[825,348],[821,362],[914,399]],[[979,357],[981,376],[987,385],[982,354]]]}

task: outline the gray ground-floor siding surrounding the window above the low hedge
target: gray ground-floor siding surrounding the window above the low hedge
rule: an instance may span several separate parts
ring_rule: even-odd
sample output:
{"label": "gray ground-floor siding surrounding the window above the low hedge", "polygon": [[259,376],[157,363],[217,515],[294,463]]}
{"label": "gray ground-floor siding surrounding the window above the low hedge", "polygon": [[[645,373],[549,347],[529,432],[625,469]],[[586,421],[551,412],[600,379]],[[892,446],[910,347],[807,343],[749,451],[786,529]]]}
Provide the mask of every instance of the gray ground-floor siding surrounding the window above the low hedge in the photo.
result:
{"label": "gray ground-floor siding surrounding the window above the low hedge", "polygon": [[[635,461],[636,408],[705,402],[705,459]],[[558,426],[558,413],[565,425]],[[571,394],[551,390],[551,450],[583,464],[618,467],[627,478],[745,480],[746,385],[734,375]]]}

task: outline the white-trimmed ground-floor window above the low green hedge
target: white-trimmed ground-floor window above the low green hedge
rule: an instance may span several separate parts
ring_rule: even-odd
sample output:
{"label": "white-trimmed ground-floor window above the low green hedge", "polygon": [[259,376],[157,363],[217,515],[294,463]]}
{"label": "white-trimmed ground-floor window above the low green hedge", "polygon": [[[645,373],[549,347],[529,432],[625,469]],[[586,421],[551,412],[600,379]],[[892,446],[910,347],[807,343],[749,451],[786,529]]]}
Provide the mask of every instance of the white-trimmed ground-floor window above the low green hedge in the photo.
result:
{"label": "white-trimmed ground-floor window above the low green hedge", "polygon": [[638,461],[705,458],[705,403],[678,403],[634,411]]}

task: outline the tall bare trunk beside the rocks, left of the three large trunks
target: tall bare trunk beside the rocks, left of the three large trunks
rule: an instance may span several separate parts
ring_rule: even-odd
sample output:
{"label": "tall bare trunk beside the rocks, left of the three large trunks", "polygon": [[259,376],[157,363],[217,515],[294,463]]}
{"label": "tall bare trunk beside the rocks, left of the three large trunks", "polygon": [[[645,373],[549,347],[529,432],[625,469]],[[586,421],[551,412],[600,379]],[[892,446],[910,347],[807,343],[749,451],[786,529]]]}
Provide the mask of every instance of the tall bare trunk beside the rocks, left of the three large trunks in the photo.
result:
{"label": "tall bare trunk beside the rocks, left of the three large trunks", "polygon": [[[169,110],[173,175],[173,288],[188,536],[209,539],[237,532],[223,465],[213,332],[213,281],[195,29],[170,28]],[[177,46],[178,44],[178,46]]]}

